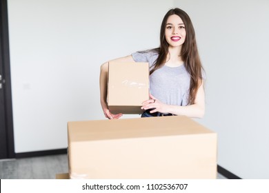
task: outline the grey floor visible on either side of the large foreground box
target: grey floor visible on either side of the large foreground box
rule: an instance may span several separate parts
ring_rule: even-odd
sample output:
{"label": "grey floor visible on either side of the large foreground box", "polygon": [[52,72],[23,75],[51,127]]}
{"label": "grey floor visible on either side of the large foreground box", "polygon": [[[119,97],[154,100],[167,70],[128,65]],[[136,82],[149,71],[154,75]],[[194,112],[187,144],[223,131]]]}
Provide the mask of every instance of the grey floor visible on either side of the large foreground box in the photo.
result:
{"label": "grey floor visible on either side of the large foreground box", "polygon": [[[55,179],[61,173],[68,173],[66,154],[0,160],[0,179]],[[217,179],[226,177],[218,174]]]}

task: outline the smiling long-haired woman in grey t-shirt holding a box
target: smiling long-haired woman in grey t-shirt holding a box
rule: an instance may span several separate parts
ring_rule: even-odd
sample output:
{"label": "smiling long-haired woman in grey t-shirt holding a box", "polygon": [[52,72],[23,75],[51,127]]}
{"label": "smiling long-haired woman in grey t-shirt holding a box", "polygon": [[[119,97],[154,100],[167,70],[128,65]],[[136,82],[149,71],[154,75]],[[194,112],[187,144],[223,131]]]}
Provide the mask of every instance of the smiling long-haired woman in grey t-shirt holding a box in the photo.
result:
{"label": "smiling long-haired woman in grey t-shirt holding a box", "polygon": [[[114,59],[150,64],[150,99],[142,103],[141,117],[186,115],[203,117],[203,67],[190,17],[179,8],[169,10],[161,23],[160,47]],[[108,119],[119,119],[106,102],[108,62],[101,65],[101,106]]]}

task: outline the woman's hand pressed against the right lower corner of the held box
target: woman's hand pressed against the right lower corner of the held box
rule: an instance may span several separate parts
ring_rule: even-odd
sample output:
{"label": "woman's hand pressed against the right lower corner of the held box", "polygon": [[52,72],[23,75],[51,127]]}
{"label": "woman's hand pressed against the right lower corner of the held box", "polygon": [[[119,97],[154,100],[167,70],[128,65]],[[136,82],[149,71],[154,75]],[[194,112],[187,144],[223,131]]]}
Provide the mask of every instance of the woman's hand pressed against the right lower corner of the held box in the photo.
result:
{"label": "woman's hand pressed against the right lower corner of the held box", "polygon": [[161,101],[159,101],[158,99],[155,98],[155,96],[152,96],[152,94],[150,94],[150,99],[148,99],[147,101],[144,101],[142,103],[142,110],[148,110],[148,109],[152,109],[150,111],[150,113],[154,113],[154,112],[161,112],[161,113],[168,113],[168,105],[161,103]]}

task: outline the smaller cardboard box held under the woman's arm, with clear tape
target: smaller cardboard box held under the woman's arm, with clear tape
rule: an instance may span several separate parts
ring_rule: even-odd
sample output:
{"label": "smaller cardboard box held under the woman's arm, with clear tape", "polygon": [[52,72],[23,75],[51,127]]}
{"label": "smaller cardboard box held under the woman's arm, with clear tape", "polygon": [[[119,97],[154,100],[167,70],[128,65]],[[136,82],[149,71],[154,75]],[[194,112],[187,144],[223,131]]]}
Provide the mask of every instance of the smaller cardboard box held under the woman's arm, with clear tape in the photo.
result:
{"label": "smaller cardboard box held under the woman's arm, with clear tape", "polygon": [[141,114],[149,98],[148,63],[108,63],[108,109],[117,114]]}

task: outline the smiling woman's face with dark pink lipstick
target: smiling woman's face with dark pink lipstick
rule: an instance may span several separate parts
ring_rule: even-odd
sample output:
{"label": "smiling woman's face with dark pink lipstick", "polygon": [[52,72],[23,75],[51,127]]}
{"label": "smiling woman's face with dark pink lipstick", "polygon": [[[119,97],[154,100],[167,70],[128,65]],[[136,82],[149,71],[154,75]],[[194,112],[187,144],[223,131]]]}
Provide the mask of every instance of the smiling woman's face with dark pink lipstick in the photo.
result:
{"label": "smiling woman's face with dark pink lipstick", "polygon": [[166,22],[166,41],[171,47],[182,46],[186,39],[185,25],[177,14],[172,14]]}

